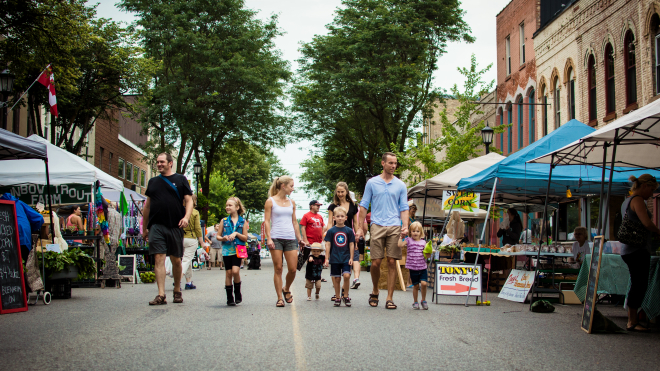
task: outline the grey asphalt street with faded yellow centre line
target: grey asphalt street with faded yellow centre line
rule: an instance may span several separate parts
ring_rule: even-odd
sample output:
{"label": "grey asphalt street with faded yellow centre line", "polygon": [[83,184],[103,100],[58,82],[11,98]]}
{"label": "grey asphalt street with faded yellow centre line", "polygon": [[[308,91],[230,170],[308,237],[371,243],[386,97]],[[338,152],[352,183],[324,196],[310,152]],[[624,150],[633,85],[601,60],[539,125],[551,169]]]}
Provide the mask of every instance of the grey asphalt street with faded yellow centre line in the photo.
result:
{"label": "grey asphalt street with faded yellow centre line", "polygon": [[[242,270],[243,303],[225,305],[224,271],[194,273],[183,304],[149,306],[154,284],[74,288],[72,298],[0,316],[2,370],[557,370],[658,369],[660,333],[588,335],[581,306],[538,314],[490,295],[490,307],[442,297],[413,310],[412,292],[395,292],[396,310],[367,304],[371,277],[351,290],[351,308],[333,307],[331,283],[306,300],[304,269],[293,304],[276,308],[273,267]],[[329,271],[324,270],[325,278]],[[429,295],[430,302],[430,295]],[[474,303],[474,301],[471,301]],[[599,309],[625,326],[621,307]]]}

